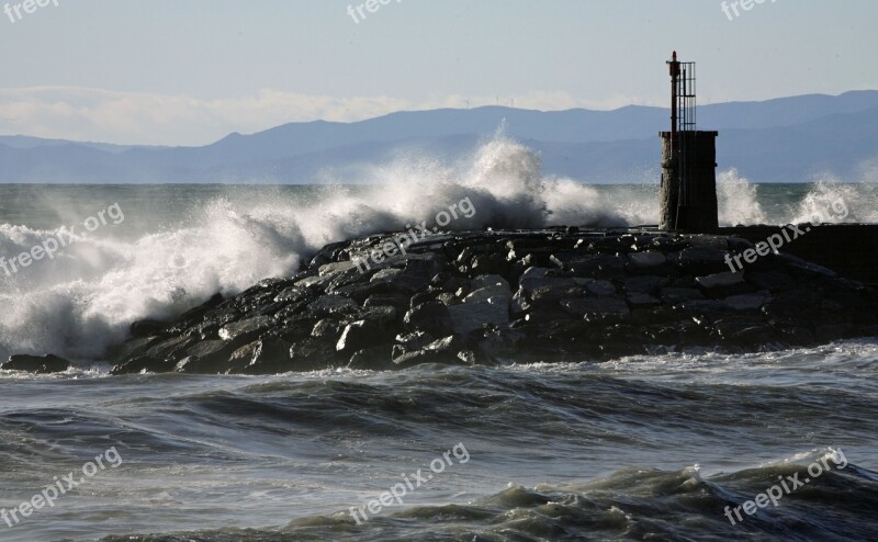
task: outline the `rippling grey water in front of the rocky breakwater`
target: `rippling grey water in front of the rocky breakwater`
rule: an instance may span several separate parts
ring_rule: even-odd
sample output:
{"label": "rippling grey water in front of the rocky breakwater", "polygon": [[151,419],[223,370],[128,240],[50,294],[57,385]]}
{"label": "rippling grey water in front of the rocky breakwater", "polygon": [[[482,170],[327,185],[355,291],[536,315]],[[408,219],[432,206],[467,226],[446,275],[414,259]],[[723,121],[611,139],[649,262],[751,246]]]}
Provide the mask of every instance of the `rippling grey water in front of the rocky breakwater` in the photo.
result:
{"label": "rippling grey water in front of the rocky breakwater", "polygon": [[[857,340],[607,363],[0,379],[7,508],[111,445],[124,459],[0,535],[869,540],[876,370],[878,341]],[[350,516],[458,442],[465,464],[363,524]],[[777,476],[803,481],[830,447],[844,468],[739,524],[724,516]]]}

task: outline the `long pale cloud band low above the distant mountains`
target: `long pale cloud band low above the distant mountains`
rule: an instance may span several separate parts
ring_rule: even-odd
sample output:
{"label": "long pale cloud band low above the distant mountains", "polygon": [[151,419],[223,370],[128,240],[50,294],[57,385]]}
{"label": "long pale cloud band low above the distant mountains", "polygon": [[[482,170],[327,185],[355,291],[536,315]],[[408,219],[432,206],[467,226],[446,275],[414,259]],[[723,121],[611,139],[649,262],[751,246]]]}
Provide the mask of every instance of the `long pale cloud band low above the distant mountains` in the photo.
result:
{"label": "long pale cloud band low above the distant mountains", "polygon": [[646,104],[621,95],[594,102],[563,91],[499,98],[444,95],[418,101],[262,90],[250,97],[204,100],[80,87],[32,87],[0,89],[0,133],[128,145],[205,145],[232,132],[254,133],[289,122],[353,122],[395,111],[497,103],[542,111]]}

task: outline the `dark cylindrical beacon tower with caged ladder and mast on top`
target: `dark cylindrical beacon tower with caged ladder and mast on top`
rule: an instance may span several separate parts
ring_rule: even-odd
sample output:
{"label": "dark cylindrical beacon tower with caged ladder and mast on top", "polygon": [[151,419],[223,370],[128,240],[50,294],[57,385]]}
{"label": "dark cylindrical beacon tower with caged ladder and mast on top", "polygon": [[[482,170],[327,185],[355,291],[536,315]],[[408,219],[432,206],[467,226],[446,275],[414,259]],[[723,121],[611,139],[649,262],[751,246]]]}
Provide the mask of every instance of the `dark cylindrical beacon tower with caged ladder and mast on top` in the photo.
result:
{"label": "dark cylindrical beacon tower with caged ladder and mast on top", "polygon": [[717,230],[717,132],[696,128],[695,63],[671,68],[671,132],[662,132],[658,227],[709,234]]}

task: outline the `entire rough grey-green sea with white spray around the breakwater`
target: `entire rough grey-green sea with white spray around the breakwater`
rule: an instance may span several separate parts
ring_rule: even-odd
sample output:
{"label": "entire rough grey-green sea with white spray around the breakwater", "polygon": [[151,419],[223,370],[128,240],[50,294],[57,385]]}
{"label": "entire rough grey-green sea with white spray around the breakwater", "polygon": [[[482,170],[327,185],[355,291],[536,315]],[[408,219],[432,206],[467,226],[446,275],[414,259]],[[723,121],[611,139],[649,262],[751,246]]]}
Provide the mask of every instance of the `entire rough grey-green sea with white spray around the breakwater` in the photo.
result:
{"label": "entire rough grey-green sea with white spray around the breakwater", "polygon": [[[812,181],[724,171],[721,222],[878,222],[875,183]],[[656,194],[547,179],[502,138],[353,187],[0,185],[0,355],[78,364],[0,372],[0,540],[878,539],[878,338],[260,377],[109,376],[102,359],[132,320],[464,197],[448,228],[654,224]]]}

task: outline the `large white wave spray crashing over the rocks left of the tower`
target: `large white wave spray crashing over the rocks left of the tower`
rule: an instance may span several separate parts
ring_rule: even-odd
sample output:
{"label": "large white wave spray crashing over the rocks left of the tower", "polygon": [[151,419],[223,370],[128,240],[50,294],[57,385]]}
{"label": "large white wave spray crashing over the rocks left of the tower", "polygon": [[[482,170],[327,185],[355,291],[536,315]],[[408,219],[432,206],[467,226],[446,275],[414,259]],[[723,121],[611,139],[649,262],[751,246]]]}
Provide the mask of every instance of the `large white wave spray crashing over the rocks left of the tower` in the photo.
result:
{"label": "large white wave spray crashing over the rocks left of the tower", "polygon": [[[279,196],[272,188],[255,201],[215,197],[161,229],[148,224],[134,237],[108,232],[79,238],[52,261],[0,273],[0,355],[100,359],[136,319],[169,318],[216,292],[235,294],[263,278],[291,275],[328,242],[434,225],[437,213],[464,197],[475,212],[447,229],[648,221],[631,210],[614,212],[614,203],[623,202],[592,187],[543,178],[539,156],[502,136],[457,167],[408,157],[369,168],[363,179],[380,184],[327,187],[311,199]],[[126,210],[130,216],[136,211]],[[0,225],[0,253],[30,251],[54,235]]]}

